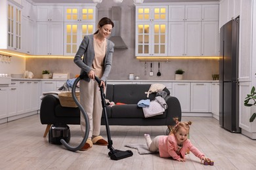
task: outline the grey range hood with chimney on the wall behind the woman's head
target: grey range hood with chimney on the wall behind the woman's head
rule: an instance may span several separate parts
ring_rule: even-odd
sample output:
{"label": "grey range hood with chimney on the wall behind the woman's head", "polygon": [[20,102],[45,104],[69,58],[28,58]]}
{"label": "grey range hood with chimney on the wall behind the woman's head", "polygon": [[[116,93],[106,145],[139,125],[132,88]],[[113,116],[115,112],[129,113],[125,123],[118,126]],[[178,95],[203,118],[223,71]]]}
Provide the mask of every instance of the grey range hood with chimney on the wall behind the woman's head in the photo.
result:
{"label": "grey range hood with chimney on the wall behind the woman's head", "polygon": [[110,41],[114,42],[115,49],[128,49],[127,45],[121,38],[121,7],[112,7],[111,9],[112,21],[114,28],[111,32]]}

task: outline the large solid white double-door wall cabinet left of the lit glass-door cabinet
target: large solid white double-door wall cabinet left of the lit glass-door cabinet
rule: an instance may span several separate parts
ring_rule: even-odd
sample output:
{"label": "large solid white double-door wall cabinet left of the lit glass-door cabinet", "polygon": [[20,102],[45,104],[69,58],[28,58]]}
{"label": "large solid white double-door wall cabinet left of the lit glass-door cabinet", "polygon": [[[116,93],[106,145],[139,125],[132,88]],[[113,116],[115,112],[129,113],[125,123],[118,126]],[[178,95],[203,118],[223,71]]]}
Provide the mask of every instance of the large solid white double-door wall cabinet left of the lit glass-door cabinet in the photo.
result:
{"label": "large solid white double-door wall cabinet left of the lit glass-door cabinet", "polygon": [[63,56],[63,22],[37,22],[37,55]]}

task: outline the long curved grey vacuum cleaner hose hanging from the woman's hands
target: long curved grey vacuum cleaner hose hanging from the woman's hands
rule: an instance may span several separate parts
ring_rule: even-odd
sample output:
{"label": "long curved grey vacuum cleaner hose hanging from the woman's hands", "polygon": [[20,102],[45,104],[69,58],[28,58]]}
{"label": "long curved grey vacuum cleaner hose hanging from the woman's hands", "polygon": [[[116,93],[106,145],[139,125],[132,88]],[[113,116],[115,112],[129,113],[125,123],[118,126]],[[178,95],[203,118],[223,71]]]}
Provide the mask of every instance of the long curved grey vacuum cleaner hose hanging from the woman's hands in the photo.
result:
{"label": "long curved grey vacuum cleaner hose hanging from the woman's hands", "polygon": [[77,86],[77,83],[79,82],[79,80],[81,80],[81,77],[77,77],[74,81],[74,84],[72,86],[72,97],[75,101],[75,104],[77,105],[77,107],[81,110],[84,118],[85,118],[85,136],[83,137],[83,140],[81,141],[81,143],[78,145],[78,146],[70,146],[68,143],[66,143],[66,141],[64,141],[64,139],[61,139],[60,142],[68,149],[68,150],[71,150],[71,151],[77,151],[79,149],[81,149],[87,139],[88,139],[88,136],[89,136],[89,118],[88,118],[88,115],[87,113],[85,112],[85,109],[83,109],[82,105],[79,103],[76,95],[75,95],[75,87]]}

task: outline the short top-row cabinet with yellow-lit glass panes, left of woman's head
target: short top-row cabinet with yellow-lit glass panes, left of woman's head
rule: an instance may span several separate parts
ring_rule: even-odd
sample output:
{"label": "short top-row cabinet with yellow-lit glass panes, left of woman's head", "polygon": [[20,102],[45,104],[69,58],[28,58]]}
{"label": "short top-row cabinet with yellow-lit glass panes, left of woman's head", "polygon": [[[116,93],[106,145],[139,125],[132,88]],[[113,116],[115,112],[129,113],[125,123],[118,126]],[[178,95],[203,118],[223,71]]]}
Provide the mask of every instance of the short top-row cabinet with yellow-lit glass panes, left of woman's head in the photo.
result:
{"label": "short top-row cabinet with yellow-lit glass panes, left of woman's head", "polygon": [[64,7],[65,22],[96,22],[96,7]]}

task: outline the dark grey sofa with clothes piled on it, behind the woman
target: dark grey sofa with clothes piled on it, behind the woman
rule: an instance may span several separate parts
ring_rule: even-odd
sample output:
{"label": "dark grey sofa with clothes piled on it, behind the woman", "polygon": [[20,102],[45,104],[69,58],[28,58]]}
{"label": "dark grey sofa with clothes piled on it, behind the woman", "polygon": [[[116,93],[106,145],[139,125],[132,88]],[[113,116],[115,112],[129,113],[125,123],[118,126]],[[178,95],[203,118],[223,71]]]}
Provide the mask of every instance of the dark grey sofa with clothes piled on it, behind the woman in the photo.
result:
{"label": "dark grey sofa with clothes piled on it, behind the woman", "polygon": [[[168,108],[165,112],[158,116],[145,118],[143,110],[137,107],[137,103],[141,99],[147,99],[151,84],[108,84],[106,91],[106,99],[114,101],[114,103],[125,103],[127,105],[115,105],[106,107],[109,125],[116,126],[168,126],[175,125],[174,117],[181,120],[181,105],[176,97],[170,96],[169,90],[164,89],[168,93],[165,97]],[[156,93],[151,93],[149,99],[156,97]],[[62,107],[60,101],[53,95],[47,95],[43,98],[40,108],[41,124],[47,124],[45,135],[47,135],[51,124],[80,124],[80,111],[78,108]],[[104,114],[102,114],[101,124],[105,124]]]}

